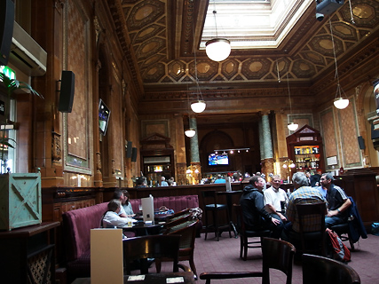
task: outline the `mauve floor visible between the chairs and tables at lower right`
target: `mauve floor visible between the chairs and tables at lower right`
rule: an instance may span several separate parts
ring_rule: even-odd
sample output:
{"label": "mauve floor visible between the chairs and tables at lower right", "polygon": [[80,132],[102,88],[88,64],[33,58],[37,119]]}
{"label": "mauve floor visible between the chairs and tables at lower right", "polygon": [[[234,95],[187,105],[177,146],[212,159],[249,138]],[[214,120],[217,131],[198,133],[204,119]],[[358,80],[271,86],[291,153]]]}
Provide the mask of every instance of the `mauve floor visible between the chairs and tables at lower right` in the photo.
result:
{"label": "mauve floor visible between the chairs and tables at lower right", "polygon": [[[210,237],[210,238],[209,238]],[[260,271],[262,266],[262,256],[260,249],[249,248],[248,260],[240,259],[240,239],[230,239],[227,233],[223,233],[220,241],[212,239],[213,235],[209,234],[208,240],[204,241],[204,235],[197,238],[195,242],[195,265],[197,272],[227,272],[227,271]],[[350,248],[348,242],[345,243]],[[359,273],[361,283],[379,283],[379,237],[368,234],[365,240],[359,240],[356,245],[356,251],[351,252],[351,265]],[[188,262],[183,264],[188,265]],[[171,266],[172,267],[172,266]],[[271,283],[285,283],[281,272],[273,271],[271,273]],[[203,284],[204,280],[198,280],[197,283]],[[212,283],[261,283],[261,279],[240,279],[240,280],[214,280]],[[293,267],[292,283],[302,284],[301,265],[295,264]]]}

